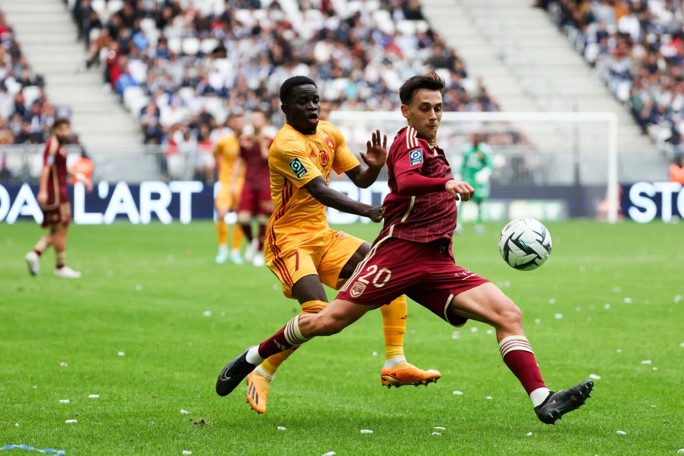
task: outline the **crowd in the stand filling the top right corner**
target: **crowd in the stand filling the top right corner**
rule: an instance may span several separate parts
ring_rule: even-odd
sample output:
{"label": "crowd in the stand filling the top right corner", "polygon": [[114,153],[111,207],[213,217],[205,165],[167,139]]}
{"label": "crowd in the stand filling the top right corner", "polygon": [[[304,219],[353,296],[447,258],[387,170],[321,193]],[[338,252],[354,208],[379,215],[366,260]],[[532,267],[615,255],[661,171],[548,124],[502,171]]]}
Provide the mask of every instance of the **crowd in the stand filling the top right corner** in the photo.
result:
{"label": "crowd in the stand filling the top right corner", "polygon": [[663,149],[684,147],[684,1],[541,0],[635,122]]}

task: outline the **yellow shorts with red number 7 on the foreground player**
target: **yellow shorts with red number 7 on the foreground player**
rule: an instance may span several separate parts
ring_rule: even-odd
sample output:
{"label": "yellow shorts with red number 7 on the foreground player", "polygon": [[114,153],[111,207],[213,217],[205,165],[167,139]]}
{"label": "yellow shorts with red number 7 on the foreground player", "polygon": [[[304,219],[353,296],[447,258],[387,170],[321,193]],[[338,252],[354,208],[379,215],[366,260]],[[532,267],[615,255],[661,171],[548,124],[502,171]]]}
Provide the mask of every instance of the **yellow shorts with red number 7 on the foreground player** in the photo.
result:
{"label": "yellow shorts with red number 7 on the foreground player", "polygon": [[266,265],[280,279],[282,294],[290,299],[292,287],[306,275],[317,275],[321,283],[339,290],[342,268],[366,242],[333,229],[306,236],[283,234],[278,238],[271,234],[267,234],[263,248]]}

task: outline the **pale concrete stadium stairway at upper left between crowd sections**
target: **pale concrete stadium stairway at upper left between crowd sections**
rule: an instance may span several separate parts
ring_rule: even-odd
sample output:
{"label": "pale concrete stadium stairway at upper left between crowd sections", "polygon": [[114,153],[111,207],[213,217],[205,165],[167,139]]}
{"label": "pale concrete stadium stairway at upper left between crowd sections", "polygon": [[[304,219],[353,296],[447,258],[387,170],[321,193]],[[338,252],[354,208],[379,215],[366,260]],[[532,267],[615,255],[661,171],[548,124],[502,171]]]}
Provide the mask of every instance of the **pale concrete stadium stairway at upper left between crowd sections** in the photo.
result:
{"label": "pale concrete stadium stairway at upper left between crowd sections", "polygon": [[55,105],[72,108],[72,129],[91,153],[141,149],[140,124],[103,90],[101,71],[77,73],[86,49],[62,0],[0,0],[8,23]]}

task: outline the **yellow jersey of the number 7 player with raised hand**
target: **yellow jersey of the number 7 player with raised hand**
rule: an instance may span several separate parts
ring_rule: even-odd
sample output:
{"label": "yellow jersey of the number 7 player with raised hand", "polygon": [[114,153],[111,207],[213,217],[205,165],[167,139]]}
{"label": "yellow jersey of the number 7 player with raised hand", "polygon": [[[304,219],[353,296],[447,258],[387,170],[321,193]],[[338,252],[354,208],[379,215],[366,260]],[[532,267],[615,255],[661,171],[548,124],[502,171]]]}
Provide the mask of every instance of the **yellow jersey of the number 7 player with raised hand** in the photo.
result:
{"label": "yellow jersey of the number 7 player with raised hand", "polygon": [[330,183],[331,170],[345,173],[359,164],[341,131],[331,123],[319,121],[315,135],[301,134],[285,124],[268,151],[274,212],[267,236],[277,234],[281,240],[328,229],[326,207],[304,185],[318,176]]}

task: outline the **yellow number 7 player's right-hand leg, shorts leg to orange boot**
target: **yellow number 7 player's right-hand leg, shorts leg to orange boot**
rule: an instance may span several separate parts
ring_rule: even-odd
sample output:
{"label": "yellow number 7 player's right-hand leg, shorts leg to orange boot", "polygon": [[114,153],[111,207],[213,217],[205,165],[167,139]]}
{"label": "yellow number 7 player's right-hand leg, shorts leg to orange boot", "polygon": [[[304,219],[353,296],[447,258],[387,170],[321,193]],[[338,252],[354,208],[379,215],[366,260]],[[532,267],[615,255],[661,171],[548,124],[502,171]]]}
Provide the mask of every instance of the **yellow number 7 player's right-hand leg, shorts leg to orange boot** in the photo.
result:
{"label": "yellow number 7 player's right-hand leg, shorts leg to orange boot", "polygon": [[[357,268],[360,268],[357,274],[362,273],[362,262],[365,261],[370,251],[371,244],[368,242],[333,231],[328,251],[321,258],[319,268],[321,281],[339,290],[347,279],[354,275]],[[350,256],[351,252],[354,253]],[[340,264],[344,264],[341,269]],[[391,386],[399,388],[402,385],[427,385],[442,377],[437,370],[423,370],[406,361],[404,333],[406,333],[407,308],[406,296],[399,296],[389,305],[380,307],[385,341],[385,362],[380,372],[380,381],[387,388]]]}

